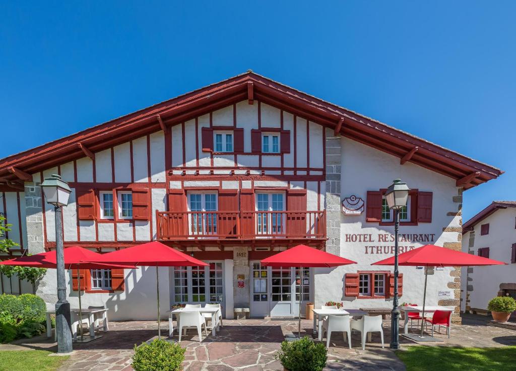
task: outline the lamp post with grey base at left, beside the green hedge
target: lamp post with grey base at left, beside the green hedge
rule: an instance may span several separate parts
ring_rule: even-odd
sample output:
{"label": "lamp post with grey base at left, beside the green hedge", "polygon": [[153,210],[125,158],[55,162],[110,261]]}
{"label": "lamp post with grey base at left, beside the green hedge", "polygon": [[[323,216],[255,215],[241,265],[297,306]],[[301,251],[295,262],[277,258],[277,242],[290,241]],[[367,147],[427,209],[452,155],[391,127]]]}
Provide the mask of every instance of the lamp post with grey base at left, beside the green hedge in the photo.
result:
{"label": "lamp post with grey base at left, beside the green hedge", "polygon": [[41,183],[46,202],[54,205],[56,224],[56,261],[57,261],[57,302],[56,302],[56,334],[57,352],[72,351],[72,330],[70,303],[66,299],[65,251],[63,249],[62,207],[68,205],[71,190],[61,177],[52,174]]}

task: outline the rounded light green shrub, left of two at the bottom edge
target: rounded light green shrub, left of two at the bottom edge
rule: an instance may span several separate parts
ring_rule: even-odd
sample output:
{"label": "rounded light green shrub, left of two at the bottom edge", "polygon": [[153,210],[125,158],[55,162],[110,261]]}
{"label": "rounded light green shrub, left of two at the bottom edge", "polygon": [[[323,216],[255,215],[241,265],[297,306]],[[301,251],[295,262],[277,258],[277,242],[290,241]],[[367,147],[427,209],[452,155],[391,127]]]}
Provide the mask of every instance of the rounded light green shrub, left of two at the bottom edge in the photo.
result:
{"label": "rounded light green shrub, left of two at the bottom edge", "polygon": [[185,360],[185,349],[166,340],[153,340],[134,346],[133,363],[135,371],[179,371]]}

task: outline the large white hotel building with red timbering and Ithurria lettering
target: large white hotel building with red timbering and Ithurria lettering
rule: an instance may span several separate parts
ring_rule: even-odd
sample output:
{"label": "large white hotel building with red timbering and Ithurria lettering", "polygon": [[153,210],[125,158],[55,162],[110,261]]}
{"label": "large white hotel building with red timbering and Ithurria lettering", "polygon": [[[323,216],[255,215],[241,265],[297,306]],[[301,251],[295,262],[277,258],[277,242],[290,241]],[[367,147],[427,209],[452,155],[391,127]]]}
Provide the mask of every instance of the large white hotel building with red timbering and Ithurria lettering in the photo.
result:
{"label": "large white hotel building with red timbering and Ithurria lettering", "polygon": [[[9,256],[55,248],[54,212],[39,187],[51,174],[72,189],[65,247],[105,252],[158,240],[187,251],[210,266],[159,268],[163,307],[219,301],[230,318],[237,307],[295,316],[300,291],[316,307],[391,307],[392,267],[370,264],[394,254],[383,199],[392,180],[412,189],[400,250],[460,250],[463,190],[502,172],[248,72],[1,159],[0,212],[21,244]],[[260,266],[300,243],[358,264],[301,276]],[[400,302],[421,302],[423,271],[400,273]],[[86,306],[106,304],[114,319],[154,317],[153,271],[80,274]],[[72,306],[76,276],[69,274]],[[55,281],[49,270],[38,286],[49,306]],[[2,284],[9,292],[12,280]],[[460,269],[428,280],[427,303],[456,306],[457,314],[459,298]]]}

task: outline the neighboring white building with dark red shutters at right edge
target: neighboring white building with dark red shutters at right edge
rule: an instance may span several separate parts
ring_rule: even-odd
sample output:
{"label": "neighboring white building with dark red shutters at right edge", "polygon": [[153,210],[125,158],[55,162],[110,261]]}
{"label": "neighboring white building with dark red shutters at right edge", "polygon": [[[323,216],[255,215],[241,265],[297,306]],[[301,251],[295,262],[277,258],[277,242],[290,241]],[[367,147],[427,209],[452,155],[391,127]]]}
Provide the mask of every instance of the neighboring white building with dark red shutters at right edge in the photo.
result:
{"label": "neighboring white building with dark red shutters at right edge", "polygon": [[461,311],[487,313],[495,296],[516,299],[516,201],[493,201],[464,223],[462,234],[462,251],[507,265],[464,267]]}

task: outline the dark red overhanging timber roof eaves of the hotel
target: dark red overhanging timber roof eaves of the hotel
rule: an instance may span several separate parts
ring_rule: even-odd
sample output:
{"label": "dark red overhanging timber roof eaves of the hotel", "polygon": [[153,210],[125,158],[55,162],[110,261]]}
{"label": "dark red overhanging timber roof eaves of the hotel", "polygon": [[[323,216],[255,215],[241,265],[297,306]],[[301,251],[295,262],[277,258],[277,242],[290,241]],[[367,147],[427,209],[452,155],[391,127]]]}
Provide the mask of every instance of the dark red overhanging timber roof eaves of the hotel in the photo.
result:
{"label": "dark red overhanging timber roof eaves of the hotel", "polygon": [[[247,72],[4,158],[0,160],[0,178],[17,183],[30,181],[28,174],[84,157],[85,148],[95,153],[156,131],[166,132],[170,126],[243,100],[257,100],[259,104],[263,102],[333,130],[338,129],[335,130],[337,134],[344,137],[451,177],[464,189],[503,173],[493,166]],[[417,150],[412,153],[414,147]]]}

